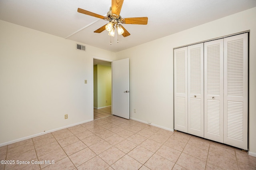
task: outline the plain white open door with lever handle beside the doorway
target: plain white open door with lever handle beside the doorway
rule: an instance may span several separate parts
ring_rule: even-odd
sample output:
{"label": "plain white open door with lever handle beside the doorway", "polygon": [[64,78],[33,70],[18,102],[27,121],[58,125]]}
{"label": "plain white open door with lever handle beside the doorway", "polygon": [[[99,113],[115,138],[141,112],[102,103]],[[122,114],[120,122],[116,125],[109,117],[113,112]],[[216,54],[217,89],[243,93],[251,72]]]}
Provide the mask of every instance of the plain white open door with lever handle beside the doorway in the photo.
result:
{"label": "plain white open door with lever handle beside the doorway", "polygon": [[112,62],[112,114],[129,119],[129,58]]}

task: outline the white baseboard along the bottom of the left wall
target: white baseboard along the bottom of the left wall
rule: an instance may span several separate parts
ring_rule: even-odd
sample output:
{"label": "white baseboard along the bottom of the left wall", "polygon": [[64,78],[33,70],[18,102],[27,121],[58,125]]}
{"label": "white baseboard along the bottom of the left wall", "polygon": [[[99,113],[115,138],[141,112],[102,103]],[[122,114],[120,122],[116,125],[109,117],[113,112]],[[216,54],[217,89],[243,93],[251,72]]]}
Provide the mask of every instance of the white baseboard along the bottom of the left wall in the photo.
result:
{"label": "white baseboard along the bottom of the left wall", "polygon": [[1,144],[0,144],[0,147],[1,147],[1,146],[8,145],[8,144],[15,143],[15,142],[20,142],[20,141],[22,141],[22,140],[34,138],[34,137],[36,137],[36,136],[40,136],[40,135],[47,134],[47,133],[50,133],[50,132],[54,132],[54,131],[57,131],[57,130],[61,130],[61,129],[64,129],[64,128],[69,128],[69,127],[73,127],[73,126],[76,126],[76,125],[80,125],[80,124],[82,124],[82,123],[87,123],[87,122],[90,122],[90,121],[93,121],[93,119],[90,119],[90,120],[88,120],[88,121],[83,121],[83,122],[80,122],[80,123],[75,123],[75,124],[72,124],[72,125],[67,125],[67,126],[60,127],[60,128],[55,128],[55,129],[48,130],[48,131],[45,131],[45,132],[41,132],[41,133],[38,133],[38,134],[33,134],[33,135],[30,135],[30,136],[26,136],[26,137],[24,137],[24,138],[15,139],[15,140],[12,140],[12,141],[9,141],[9,142],[4,142],[4,143],[1,143]]}

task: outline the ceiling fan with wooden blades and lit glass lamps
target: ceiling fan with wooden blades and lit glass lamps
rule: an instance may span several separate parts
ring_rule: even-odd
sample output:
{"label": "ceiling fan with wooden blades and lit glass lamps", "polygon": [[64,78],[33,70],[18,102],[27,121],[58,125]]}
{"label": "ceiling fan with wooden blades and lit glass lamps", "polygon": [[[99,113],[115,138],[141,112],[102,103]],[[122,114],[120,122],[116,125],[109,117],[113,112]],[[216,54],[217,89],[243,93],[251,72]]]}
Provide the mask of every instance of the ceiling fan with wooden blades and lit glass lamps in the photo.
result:
{"label": "ceiling fan with wooden blades and lit glass lamps", "polygon": [[90,11],[83,10],[81,8],[78,8],[77,12],[109,21],[108,24],[100,27],[98,30],[95,30],[94,32],[96,33],[101,33],[104,30],[107,30],[109,32],[108,35],[114,37],[114,34],[115,34],[114,30],[116,26],[118,34],[119,35],[122,34],[122,36],[127,37],[127,36],[130,36],[130,33],[120,23],[146,25],[148,24],[148,17],[122,18],[119,14],[120,14],[123,2],[124,0],[112,0],[112,6],[110,7],[110,11],[108,11],[108,14],[106,17],[99,14],[95,14]]}

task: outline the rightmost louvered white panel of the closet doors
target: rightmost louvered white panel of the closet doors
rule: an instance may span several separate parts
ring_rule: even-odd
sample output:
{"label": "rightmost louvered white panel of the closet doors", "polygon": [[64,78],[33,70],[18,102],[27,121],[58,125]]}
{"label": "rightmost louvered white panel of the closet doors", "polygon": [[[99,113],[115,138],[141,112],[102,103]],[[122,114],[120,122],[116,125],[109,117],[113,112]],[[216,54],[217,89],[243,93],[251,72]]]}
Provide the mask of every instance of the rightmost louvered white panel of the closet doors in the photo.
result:
{"label": "rightmost louvered white panel of the closet doors", "polygon": [[248,33],[224,38],[224,143],[248,150]]}

